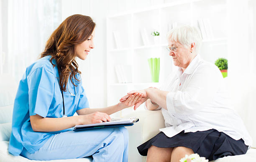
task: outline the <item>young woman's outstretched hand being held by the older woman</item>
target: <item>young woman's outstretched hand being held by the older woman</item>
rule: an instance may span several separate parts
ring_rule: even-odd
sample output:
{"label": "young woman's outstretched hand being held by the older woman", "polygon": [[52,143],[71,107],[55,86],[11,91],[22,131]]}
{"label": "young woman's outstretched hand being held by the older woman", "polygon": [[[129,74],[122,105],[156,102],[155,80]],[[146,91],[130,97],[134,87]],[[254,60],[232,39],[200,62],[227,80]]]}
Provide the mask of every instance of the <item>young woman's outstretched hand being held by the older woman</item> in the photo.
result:
{"label": "young woman's outstretched hand being held by the older woman", "polygon": [[121,107],[121,109],[134,106],[136,103],[138,103],[141,100],[142,96],[143,94],[141,93],[131,94],[126,98],[126,100],[119,102],[118,106]]}

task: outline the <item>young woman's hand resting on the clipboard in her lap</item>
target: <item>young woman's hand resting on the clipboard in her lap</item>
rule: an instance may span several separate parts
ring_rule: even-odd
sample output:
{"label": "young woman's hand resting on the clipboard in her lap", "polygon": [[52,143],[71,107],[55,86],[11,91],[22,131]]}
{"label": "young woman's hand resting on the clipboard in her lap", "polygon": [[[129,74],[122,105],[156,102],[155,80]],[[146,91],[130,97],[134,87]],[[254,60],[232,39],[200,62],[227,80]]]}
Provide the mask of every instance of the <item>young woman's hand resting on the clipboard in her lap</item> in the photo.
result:
{"label": "young woman's hand resting on the clipboard in her lap", "polygon": [[110,116],[104,112],[93,112],[88,115],[79,115],[81,124],[94,124],[110,121]]}

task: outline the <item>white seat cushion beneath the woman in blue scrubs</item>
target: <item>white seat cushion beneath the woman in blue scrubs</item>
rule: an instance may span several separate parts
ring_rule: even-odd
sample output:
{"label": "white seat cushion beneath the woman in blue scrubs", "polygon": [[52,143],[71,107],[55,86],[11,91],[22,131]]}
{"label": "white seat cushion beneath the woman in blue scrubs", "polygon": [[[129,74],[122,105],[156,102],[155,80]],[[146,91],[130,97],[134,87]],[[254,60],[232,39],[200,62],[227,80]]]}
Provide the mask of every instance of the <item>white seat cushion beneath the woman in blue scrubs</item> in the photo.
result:
{"label": "white seat cushion beneath the woman in blue scrubs", "polygon": [[67,159],[67,160],[49,160],[49,161],[37,161],[29,160],[22,156],[13,156],[8,152],[8,141],[0,141],[0,162],[92,162],[91,157],[80,159]]}

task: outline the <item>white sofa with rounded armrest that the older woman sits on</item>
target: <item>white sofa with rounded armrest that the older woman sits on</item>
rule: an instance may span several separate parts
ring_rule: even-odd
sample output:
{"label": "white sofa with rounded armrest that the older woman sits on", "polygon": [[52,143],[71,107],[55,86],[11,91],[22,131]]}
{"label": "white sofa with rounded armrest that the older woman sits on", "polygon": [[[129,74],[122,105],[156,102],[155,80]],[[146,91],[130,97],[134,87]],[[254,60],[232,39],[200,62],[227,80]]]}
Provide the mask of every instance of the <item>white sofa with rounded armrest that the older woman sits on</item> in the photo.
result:
{"label": "white sofa with rounded armrest that the older woman sits on", "polygon": [[[256,120],[254,120],[256,114],[256,77],[248,76],[226,77],[224,80],[230,92],[233,108],[242,117],[253,139],[253,145],[245,155],[223,157],[211,162],[256,162]],[[253,99],[254,102],[248,102],[253,101]],[[126,127],[131,139],[129,142],[129,162],[145,162],[146,157],[139,155],[136,147],[159,133],[159,128],[165,127],[161,110],[137,110],[127,116],[139,118],[138,123],[132,127]]]}

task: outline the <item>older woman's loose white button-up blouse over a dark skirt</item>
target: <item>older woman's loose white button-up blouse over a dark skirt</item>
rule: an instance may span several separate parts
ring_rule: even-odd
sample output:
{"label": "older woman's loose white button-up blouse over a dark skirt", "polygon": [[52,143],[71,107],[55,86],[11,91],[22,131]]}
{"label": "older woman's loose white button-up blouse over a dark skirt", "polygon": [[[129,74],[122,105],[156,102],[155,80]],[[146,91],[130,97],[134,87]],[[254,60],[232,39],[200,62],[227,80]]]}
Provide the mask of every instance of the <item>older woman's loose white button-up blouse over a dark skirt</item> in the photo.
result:
{"label": "older woman's loose white button-up blouse over a dark skirt", "polygon": [[241,117],[230,107],[223,76],[214,64],[197,55],[183,73],[181,68],[172,72],[160,89],[169,91],[167,110],[162,108],[165,128],[160,129],[166,136],[173,137],[183,130],[215,129],[252,145]]}

